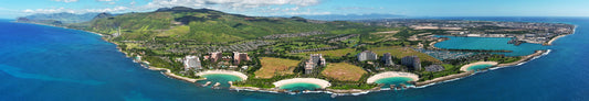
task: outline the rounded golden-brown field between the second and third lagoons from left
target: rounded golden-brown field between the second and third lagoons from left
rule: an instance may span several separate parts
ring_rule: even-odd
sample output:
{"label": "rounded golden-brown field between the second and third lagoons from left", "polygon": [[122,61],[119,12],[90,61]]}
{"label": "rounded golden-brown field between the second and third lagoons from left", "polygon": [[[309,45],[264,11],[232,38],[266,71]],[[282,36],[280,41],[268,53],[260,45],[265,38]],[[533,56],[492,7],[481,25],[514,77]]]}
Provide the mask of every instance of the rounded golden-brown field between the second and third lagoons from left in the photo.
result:
{"label": "rounded golden-brown field between the second and third lagoons from left", "polygon": [[365,74],[362,68],[347,63],[329,63],[322,71],[323,76],[340,81],[358,81]]}

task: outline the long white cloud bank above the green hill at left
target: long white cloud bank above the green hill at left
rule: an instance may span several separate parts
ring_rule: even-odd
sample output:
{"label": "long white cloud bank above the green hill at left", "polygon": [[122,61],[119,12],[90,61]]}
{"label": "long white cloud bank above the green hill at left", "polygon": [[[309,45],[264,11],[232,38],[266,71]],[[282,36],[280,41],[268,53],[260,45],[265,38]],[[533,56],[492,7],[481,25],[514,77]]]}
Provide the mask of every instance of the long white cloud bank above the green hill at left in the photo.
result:
{"label": "long white cloud bank above the green hill at left", "polygon": [[[78,0],[54,0],[62,2],[74,2]],[[135,5],[137,2],[120,3],[122,0],[95,0],[103,4],[117,5],[114,8],[98,9],[27,9],[25,13],[87,13],[87,12],[127,12],[127,11],[151,11],[159,8],[188,7],[207,8],[230,13],[266,15],[266,14],[329,14],[330,12],[319,12],[306,9],[309,5],[319,4],[322,0],[151,0],[144,5]],[[116,3],[115,3],[116,2]],[[304,9],[304,10],[303,10]]]}

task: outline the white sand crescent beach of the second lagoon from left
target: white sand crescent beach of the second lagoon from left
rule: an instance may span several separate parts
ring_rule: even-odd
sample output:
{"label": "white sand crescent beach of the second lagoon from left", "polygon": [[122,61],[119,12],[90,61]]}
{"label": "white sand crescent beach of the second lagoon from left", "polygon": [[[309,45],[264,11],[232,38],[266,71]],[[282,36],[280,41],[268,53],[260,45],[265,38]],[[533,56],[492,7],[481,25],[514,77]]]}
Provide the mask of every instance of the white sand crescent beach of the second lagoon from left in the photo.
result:
{"label": "white sand crescent beach of the second lagoon from left", "polygon": [[288,83],[296,83],[296,82],[306,82],[306,83],[315,83],[318,85],[322,88],[327,88],[332,86],[329,81],[323,80],[323,79],[316,79],[316,78],[292,78],[292,79],[284,79],[276,82],[273,82],[275,87],[282,87],[284,85]]}

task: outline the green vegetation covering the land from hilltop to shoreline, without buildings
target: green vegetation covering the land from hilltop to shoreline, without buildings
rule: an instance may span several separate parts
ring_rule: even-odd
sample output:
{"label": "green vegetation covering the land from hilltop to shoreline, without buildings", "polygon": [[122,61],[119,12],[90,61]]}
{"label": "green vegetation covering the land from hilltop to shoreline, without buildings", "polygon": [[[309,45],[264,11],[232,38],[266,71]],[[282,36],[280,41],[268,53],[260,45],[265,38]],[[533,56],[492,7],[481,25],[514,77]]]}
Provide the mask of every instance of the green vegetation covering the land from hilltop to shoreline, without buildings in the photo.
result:
{"label": "green vegetation covering the land from hilltop to shoreline, without buildings", "polygon": [[[452,35],[463,30],[455,27],[385,26],[297,16],[246,16],[182,7],[98,16],[88,22],[63,26],[102,33],[104,40],[117,44],[127,56],[138,57],[136,60],[147,61],[149,67],[166,68],[178,76],[201,78],[196,72],[208,69],[245,74],[248,79],[233,82],[235,87],[272,89],[276,88],[273,82],[283,79],[317,78],[332,83],[327,89],[367,90],[379,87],[379,83],[367,83],[370,76],[379,72],[416,74],[419,75],[419,81],[427,81],[464,72],[460,67],[470,63],[508,64],[525,59],[488,54],[496,50],[483,49],[456,49],[453,52],[476,54],[451,59],[438,59],[422,52],[431,49],[440,50],[437,54],[448,54],[448,50],[432,48],[429,43],[443,40],[434,35]],[[488,30],[505,27],[475,29]],[[359,61],[357,55],[364,50],[377,54],[376,58]],[[211,60],[212,52],[221,52],[222,58]],[[238,63],[232,52],[246,53],[251,59]],[[382,60],[386,53],[392,55],[392,65],[386,65]],[[327,65],[305,72],[304,66],[312,54],[322,54]],[[183,59],[188,55],[200,58],[202,69],[185,69]],[[406,56],[417,56],[421,67],[414,69],[401,64],[401,58]],[[422,69],[434,65],[440,65],[441,68]]]}

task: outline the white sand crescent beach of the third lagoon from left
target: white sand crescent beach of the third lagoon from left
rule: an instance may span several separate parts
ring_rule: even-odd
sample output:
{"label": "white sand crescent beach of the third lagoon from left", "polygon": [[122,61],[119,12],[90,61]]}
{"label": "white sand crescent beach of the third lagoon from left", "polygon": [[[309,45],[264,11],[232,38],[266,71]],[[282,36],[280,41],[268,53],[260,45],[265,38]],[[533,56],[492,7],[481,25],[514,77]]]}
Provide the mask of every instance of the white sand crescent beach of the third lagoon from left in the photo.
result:
{"label": "white sand crescent beach of the third lagoon from left", "polygon": [[401,72],[401,71],[386,71],[386,72],[380,72],[380,74],[377,74],[377,75],[368,78],[366,80],[366,82],[367,83],[374,83],[375,81],[377,81],[379,79],[391,78],[391,77],[406,77],[406,78],[413,79],[413,81],[418,81],[419,80],[419,76],[416,75],[416,74]]}

